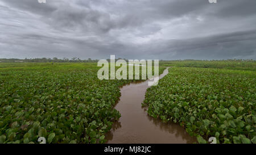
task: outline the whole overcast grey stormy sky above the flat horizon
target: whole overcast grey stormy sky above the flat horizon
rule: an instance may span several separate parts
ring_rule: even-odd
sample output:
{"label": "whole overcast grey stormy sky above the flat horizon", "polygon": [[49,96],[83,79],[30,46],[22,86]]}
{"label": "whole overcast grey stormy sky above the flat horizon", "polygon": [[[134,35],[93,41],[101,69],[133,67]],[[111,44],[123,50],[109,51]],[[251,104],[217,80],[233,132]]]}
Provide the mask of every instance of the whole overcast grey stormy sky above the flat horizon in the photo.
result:
{"label": "whole overcast grey stormy sky above the flat horizon", "polygon": [[256,59],[255,0],[0,0],[0,58]]}

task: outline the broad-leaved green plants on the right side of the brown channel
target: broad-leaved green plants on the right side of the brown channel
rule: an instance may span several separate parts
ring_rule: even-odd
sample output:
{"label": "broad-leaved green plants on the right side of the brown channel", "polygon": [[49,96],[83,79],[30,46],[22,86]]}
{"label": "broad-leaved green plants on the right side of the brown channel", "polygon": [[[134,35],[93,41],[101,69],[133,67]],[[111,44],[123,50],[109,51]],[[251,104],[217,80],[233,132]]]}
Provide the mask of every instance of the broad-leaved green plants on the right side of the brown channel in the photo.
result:
{"label": "broad-leaved green plants on the right side of the brown channel", "polygon": [[[211,63],[214,67],[233,62]],[[179,122],[199,143],[207,143],[212,136],[217,143],[256,143],[256,72],[250,71],[255,69],[249,69],[251,65],[255,67],[255,62],[243,64],[247,70],[170,68],[146,92],[148,114],[164,122]]]}

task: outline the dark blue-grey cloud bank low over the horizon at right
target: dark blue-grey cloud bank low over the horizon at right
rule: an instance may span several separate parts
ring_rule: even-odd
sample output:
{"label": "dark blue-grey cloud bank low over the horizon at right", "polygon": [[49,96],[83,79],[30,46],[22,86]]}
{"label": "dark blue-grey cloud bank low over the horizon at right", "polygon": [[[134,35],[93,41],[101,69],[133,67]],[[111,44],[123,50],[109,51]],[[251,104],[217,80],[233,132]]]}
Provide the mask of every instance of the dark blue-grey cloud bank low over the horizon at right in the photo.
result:
{"label": "dark blue-grey cloud bank low over the horizon at right", "polygon": [[210,37],[170,40],[166,41],[166,47],[162,50],[163,53],[167,53],[165,49],[179,51],[179,54],[187,59],[218,59],[220,55],[226,58],[251,58],[255,55],[254,43],[256,31],[241,31]]}

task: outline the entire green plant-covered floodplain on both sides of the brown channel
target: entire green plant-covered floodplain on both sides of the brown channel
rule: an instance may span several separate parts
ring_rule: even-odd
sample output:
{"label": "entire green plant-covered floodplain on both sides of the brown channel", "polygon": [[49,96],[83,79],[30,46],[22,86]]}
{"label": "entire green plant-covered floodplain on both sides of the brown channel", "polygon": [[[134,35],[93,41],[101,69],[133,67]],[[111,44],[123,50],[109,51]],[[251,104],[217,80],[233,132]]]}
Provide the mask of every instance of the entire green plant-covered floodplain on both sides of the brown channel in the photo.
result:
{"label": "entire green plant-covered floodplain on both sides of the brown channel", "polygon": [[[198,143],[256,143],[254,60],[160,61],[143,106],[179,123]],[[0,62],[0,143],[105,143],[120,114],[119,87],[100,80],[96,62]]]}

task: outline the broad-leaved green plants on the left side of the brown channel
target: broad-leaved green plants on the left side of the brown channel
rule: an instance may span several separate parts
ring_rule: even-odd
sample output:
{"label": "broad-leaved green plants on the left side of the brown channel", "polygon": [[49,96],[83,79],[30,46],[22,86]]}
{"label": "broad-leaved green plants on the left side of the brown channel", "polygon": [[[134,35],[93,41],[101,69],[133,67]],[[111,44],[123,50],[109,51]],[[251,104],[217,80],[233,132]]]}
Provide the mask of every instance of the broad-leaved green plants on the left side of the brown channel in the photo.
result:
{"label": "broad-leaved green plants on the left side of the brown channel", "polygon": [[0,64],[0,143],[105,143],[119,87],[132,80],[100,81],[96,66]]}

